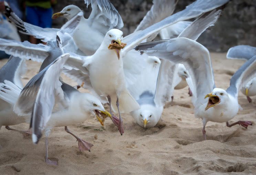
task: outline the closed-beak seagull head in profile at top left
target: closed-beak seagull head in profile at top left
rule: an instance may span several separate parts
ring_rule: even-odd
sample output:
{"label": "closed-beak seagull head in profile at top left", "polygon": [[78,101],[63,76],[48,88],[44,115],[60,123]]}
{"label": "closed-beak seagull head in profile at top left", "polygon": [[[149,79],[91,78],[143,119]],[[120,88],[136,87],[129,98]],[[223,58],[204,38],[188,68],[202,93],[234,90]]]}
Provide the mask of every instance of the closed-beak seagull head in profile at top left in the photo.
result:
{"label": "closed-beak seagull head in profile at top left", "polygon": [[60,16],[67,18],[67,20],[70,20],[73,18],[78,12],[81,12],[82,10],[77,7],[76,5],[68,5],[62,9],[62,11],[54,13],[52,15],[52,19],[56,19]]}

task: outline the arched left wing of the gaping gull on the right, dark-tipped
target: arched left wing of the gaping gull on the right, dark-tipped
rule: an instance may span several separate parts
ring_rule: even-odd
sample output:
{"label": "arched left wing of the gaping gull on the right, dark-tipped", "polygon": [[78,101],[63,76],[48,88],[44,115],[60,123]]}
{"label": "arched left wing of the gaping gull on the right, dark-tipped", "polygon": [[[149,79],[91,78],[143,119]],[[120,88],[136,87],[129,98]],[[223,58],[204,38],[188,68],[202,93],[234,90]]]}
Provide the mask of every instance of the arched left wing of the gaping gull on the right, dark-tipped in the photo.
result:
{"label": "arched left wing of the gaping gull on the right, dark-tipped", "polygon": [[197,103],[204,102],[204,95],[210,93],[214,85],[214,75],[209,51],[200,43],[188,38],[174,38],[164,42],[141,43],[136,49],[150,56],[182,63],[188,70]]}

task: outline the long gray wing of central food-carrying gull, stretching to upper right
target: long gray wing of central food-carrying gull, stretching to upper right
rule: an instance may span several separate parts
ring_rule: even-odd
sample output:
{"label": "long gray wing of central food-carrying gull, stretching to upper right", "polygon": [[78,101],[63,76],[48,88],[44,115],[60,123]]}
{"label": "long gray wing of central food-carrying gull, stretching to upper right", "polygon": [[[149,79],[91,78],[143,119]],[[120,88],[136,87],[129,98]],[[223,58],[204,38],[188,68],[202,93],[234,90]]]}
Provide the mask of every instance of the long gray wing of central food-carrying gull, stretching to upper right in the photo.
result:
{"label": "long gray wing of central food-carrying gull, stretching to upper right", "polygon": [[141,32],[131,35],[131,37],[126,37],[125,41],[127,43],[127,46],[122,50],[123,54],[124,52],[127,52],[134,48],[136,45],[138,45],[143,39],[146,39],[150,35],[152,35],[155,32],[158,32],[162,28],[165,28],[169,25],[172,25],[174,23],[177,23],[179,21],[188,20],[190,18],[196,17],[201,15],[202,13],[211,11],[213,9],[216,9],[224,4],[226,4],[229,0],[197,0],[193,2],[192,4],[188,5],[186,9],[175,13],[164,20],[153,24],[152,26],[142,30]]}

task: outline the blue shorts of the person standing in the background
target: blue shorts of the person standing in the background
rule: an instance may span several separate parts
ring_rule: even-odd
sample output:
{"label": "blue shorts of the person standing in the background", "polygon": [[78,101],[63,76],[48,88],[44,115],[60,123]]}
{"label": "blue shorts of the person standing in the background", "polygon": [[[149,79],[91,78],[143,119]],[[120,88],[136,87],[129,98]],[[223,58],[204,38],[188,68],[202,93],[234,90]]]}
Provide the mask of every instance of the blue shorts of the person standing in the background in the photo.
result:
{"label": "blue shorts of the person standing in the background", "polygon": [[28,7],[26,6],[26,22],[42,27],[50,28],[52,27],[52,15],[53,10],[44,9],[40,7]]}

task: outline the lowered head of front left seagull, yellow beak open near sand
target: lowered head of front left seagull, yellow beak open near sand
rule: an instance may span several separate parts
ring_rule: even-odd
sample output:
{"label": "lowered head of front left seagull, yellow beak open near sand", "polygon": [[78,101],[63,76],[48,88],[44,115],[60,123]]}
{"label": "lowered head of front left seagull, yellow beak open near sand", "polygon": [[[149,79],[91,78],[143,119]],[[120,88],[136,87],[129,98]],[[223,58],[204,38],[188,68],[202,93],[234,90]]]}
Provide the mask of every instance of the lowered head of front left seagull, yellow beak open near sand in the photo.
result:
{"label": "lowered head of front left seagull, yellow beak open near sand", "polygon": [[82,102],[81,102],[82,110],[85,113],[90,111],[91,114],[96,114],[96,117],[98,118],[99,122],[102,125],[103,125],[103,122],[99,115],[104,115],[106,117],[111,118],[111,115],[105,110],[100,100],[95,96],[93,96],[92,94],[82,93],[80,98],[82,99]]}

